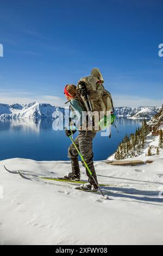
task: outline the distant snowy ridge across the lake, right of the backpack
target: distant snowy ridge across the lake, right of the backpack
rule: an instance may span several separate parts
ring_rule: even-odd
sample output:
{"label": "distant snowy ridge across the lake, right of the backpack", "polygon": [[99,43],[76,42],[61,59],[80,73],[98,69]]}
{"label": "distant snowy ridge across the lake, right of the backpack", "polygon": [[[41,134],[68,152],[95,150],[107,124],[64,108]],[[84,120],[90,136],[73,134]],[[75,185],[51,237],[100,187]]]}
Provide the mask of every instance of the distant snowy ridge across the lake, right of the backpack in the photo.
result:
{"label": "distant snowy ridge across the lake, right of the backpack", "polygon": [[[145,109],[147,108],[151,109],[152,111],[151,118],[153,117],[153,113],[158,113],[161,109],[161,107],[115,107],[115,112],[117,117],[130,118],[134,117],[134,115],[139,113],[140,111],[145,111]],[[137,118],[135,117],[135,119]]]}

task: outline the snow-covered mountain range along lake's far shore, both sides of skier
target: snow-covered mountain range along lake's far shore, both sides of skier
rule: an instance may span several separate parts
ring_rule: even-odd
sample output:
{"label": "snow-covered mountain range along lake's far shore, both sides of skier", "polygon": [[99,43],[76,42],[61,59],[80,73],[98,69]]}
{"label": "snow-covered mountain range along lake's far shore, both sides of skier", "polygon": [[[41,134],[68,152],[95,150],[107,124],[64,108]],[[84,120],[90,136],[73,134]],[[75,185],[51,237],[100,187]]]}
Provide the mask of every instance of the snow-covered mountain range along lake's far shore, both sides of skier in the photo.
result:
{"label": "snow-covered mountain range along lake's far shore, both sides of skier", "polygon": [[[0,118],[56,118],[58,112],[64,113],[64,108],[47,103],[32,102],[26,105],[1,104]],[[117,117],[123,118],[152,118],[160,111],[160,107],[115,107]],[[141,117],[140,117],[141,116]]]}

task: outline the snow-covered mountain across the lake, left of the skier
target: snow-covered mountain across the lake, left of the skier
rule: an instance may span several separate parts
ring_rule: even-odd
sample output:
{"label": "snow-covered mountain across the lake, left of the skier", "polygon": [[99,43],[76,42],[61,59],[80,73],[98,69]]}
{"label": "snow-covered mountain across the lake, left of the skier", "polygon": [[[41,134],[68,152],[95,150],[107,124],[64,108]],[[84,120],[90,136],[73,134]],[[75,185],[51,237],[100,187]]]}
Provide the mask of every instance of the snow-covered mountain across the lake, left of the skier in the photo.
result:
{"label": "snow-covered mountain across the lake, left of the skier", "polygon": [[0,104],[0,118],[52,118],[57,116],[58,111],[63,112],[60,107],[50,104],[33,102],[27,105],[4,105]]}

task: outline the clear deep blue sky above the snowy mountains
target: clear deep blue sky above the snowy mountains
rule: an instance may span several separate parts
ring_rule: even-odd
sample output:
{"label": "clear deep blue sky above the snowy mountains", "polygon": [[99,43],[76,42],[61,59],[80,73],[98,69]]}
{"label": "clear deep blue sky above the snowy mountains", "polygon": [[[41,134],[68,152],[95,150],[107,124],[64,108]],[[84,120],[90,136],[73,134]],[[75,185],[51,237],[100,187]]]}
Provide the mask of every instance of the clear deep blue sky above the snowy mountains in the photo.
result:
{"label": "clear deep blue sky above the snowy mountains", "polygon": [[0,2],[0,102],[63,105],[98,67],[116,106],[163,103],[161,0]]}

